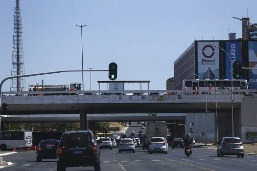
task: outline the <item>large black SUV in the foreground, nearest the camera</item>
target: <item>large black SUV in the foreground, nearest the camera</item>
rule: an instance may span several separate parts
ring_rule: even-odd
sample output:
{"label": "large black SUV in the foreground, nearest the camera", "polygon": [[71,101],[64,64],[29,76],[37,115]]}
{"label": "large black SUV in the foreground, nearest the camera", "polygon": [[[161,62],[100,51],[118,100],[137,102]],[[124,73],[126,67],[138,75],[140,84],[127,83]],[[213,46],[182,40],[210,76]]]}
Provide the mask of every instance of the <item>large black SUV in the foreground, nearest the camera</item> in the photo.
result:
{"label": "large black SUV in the foreground, nearest the camera", "polygon": [[57,171],[70,167],[94,167],[100,171],[100,150],[92,131],[78,130],[63,133],[57,148]]}

